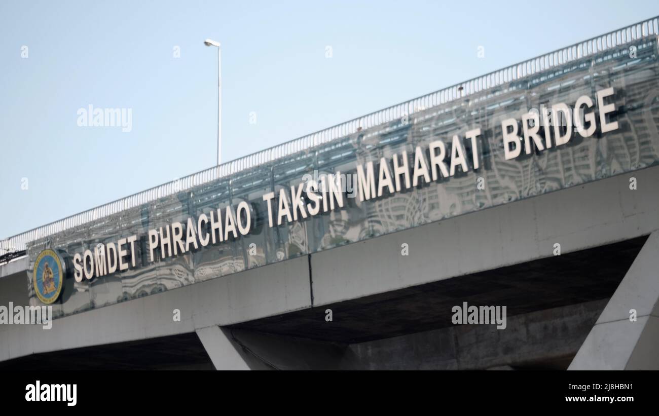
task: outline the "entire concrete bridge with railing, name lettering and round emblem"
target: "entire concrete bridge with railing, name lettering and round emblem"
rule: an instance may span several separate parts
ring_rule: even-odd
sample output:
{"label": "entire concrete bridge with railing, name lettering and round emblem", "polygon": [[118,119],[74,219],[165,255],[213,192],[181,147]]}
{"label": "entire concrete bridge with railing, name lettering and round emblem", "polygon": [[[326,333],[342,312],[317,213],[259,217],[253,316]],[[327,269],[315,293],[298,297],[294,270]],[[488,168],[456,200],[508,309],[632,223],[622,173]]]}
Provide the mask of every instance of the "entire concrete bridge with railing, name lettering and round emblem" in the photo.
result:
{"label": "entire concrete bridge with railing, name lettering and round emblem", "polygon": [[659,341],[658,34],[652,18],[3,240],[0,305],[54,321],[0,325],[0,367],[659,368],[641,345]]}

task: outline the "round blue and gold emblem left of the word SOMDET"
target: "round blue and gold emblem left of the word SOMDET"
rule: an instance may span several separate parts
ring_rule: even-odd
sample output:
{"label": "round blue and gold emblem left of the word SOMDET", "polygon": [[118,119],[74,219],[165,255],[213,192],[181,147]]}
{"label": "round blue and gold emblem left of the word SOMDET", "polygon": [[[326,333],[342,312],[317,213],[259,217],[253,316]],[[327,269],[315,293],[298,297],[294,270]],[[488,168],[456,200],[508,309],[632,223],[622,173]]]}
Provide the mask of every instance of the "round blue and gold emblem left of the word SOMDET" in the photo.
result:
{"label": "round blue and gold emblem left of the word SOMDET", "polygon": [[55,251],[45,249],[34,262],[32,283],[40,301],[49,305],[57,300],[64,286],[65,263]]}

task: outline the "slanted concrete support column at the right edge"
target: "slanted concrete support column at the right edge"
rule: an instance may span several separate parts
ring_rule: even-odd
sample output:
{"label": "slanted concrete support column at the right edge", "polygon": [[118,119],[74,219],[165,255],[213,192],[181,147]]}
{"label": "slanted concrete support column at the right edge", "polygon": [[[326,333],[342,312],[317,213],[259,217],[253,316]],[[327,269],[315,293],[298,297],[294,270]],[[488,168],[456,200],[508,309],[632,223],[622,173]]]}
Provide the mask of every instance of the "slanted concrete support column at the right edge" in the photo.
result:
{"label": "slanted concrete support column at the right edge", "polygon": [[658,346],[659,231],[654,231],[604,307],[569,370],[657,370]]}

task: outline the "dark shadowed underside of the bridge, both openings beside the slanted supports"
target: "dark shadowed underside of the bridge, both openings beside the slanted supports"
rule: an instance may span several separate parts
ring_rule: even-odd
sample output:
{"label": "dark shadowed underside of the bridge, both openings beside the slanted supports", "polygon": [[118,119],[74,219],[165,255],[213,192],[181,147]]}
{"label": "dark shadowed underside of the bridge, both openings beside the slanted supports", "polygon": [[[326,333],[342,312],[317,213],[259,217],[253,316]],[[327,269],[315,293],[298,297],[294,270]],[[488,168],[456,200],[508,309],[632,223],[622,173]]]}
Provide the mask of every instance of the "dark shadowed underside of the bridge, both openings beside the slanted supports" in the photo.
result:
{"label": "dark shadowed underside of the bridge, both openings beside the slanted supports", "polygon": [[[647,236],[223,327],[250,368],[567,369]],[[506,305],[507,328],[453,325]],[[331,309],[332,321],[326,321]],[[300,360],[286,359],[293,351]],[[293,353],[292,352],[292,353]],[[293,363],[295,361],[295,363]],[[213,369],[194,333],[28,355],[0,369]]]}

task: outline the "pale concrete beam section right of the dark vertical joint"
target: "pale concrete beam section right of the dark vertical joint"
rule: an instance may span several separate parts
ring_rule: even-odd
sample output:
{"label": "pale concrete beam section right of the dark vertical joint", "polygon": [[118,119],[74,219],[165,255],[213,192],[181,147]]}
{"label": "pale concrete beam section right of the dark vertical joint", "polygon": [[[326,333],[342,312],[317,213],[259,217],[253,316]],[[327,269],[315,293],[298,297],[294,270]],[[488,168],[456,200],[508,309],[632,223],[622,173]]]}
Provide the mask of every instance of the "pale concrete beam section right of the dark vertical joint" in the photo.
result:
{"label": "pale concrete beam section right of the dark vertical joint", "polygon": [[648,235],[658,182],[651,167],[314,253],[314,306],[551,257],[557,243],[569,253]]}

